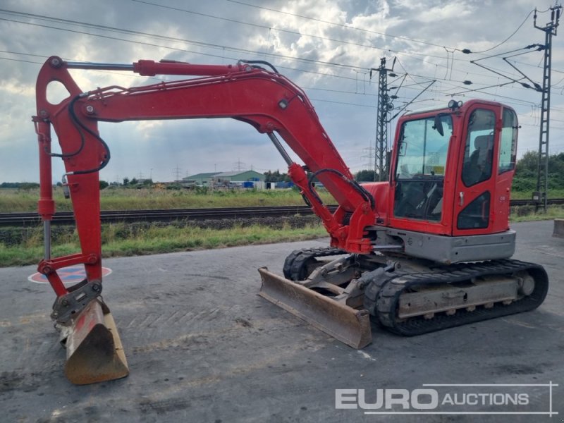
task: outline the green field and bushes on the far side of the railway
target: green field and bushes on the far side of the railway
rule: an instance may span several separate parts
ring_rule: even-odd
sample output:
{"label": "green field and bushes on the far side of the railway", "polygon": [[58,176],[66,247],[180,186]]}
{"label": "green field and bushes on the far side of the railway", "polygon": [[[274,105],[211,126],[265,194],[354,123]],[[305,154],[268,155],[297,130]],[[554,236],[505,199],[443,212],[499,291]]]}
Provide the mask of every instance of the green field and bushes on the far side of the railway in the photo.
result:
{"label": "green field and bushes on the far side of the railway", "polygon": [[[538,153],[527,152],[517,161],[513,191],[515,200],[530,200],[537,187]],[[548,198],[564,198],[564,153],[549,157]],[[266,172],[267,180],[288,180],[286,173]],[[357,180],[374,180],[374,171],[360,171]],[[298,190],[209,190],[208,188],[182,189],[179,186],[154,184],[152,180],[137,183],[124,178],[123,185],[108,185],[100,181],[102,210],[139,209],[197,209],[221,207],[271,207],[303,205]],[[174,189],[169,189],[174,188]],[[321,200],[335,204],[326,190],[319,190]],[[0,213],[35,212],[39,191],[35,183],[0,184]],[[63,198],[63,189],[54,188],[56,209],[71,211],[71,201]]]}

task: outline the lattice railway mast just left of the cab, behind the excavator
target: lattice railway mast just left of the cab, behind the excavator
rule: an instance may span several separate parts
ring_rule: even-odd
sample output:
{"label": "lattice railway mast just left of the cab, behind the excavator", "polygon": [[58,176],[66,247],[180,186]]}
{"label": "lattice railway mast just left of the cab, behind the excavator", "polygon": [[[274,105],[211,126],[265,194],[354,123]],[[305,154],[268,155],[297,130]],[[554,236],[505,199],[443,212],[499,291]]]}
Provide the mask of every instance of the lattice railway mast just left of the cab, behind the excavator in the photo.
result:
{"label": "lattice railway mast just left of the cab, behind the excavator", "polygon": [[[394,59],[393,63],[396,63]],[[374,149],[374,180],[386,180],[388,178],[388,113],[393,109],[390,97],[388,96],[388,72],[392,69],[386,68],[386,58],[380,59],[380,67],[370,69],[370,77],[372,71],[378,71],[378,104],[376,106],[376,145]],[[397,76],[390,73],[390,76]],[[378,176],[376,176],[376,173]]]}

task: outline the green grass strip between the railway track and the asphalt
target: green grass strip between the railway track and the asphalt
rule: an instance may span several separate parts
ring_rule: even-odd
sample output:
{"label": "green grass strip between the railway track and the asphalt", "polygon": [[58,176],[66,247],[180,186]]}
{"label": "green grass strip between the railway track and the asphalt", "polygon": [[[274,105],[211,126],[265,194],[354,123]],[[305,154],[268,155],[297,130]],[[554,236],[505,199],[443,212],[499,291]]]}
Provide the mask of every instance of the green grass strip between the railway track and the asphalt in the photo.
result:
{"label": "green grass strip between the railway track and the asphalt", "polygon": [[[564,219],[564,206],[551,206],[546,214],[534,207],[513,207],[512,222]],[[215,224],[215,223],[214,223]],[[223,228],[202,228],[183,222],[109,223],[102,225],[102,255],[127,257],[166,252],[207,250],[236,245],[256,245],[308,240],[327,235],[314,216],[276,219],[276,224],[223,222]],[[224,226],[228,226],[225,228]],[[0,231],[0,267],[37,264],[43,256],[42,227],[3,228]],[[80,251],[73,227],[54,226],[54,257]]]}

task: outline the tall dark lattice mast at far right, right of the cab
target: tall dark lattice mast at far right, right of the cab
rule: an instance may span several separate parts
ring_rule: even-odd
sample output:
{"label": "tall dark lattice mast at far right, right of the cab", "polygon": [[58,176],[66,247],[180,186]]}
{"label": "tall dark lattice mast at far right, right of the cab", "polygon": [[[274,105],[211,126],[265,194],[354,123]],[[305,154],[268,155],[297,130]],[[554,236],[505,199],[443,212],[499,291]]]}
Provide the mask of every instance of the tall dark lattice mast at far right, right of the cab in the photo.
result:
{"label": "tall dark lattice mast at far right, right of the cab", "polygon": [[551,63],[552,36],[556,35],[560,10],[562,6],[551,7],[551,21],[540,27],[537,25],[537,9],[534,9],[534,27],[544,31],[544,69],[542,77],[541,125],[539,134],[539,168],[537,172],[537,192],[533,199],[537,200],[536,209],[543,209],[546,213],[548,203],[548,132],[551,116]]}

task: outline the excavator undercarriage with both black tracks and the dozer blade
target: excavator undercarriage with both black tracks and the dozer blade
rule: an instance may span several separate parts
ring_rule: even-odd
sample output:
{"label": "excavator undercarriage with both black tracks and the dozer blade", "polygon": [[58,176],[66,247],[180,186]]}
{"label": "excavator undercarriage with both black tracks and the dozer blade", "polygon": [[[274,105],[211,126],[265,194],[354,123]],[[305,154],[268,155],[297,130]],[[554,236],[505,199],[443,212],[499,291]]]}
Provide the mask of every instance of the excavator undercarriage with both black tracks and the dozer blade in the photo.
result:
{"label": "excavator undercarriage with both black tracks and the dozer blade", "polygon": [[259,273],[262,297],[353,348],[372,341],[368,318],[415,336],[535,309],[548,290],[542,266],[513,259],[447,266],[334,248],[292,252],[286,278]]}

